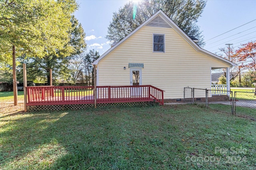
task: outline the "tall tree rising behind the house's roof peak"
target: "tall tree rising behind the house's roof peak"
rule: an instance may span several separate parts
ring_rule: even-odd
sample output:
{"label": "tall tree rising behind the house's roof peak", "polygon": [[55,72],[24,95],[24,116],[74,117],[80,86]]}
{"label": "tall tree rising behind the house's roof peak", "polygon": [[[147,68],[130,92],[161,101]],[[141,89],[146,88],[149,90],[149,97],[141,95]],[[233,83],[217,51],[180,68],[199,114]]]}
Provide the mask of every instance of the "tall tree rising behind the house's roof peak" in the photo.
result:
{"label": "tall tree rising behind the house's roof peak", "polygon": [[203,46],[203,36],[196,22],[205,5],[205,0],[142,0],[138,5],[128,2],[113,13],[106,38],[113,42],[120,41],[162,9],[186,34],[199,39],[198,45]]}

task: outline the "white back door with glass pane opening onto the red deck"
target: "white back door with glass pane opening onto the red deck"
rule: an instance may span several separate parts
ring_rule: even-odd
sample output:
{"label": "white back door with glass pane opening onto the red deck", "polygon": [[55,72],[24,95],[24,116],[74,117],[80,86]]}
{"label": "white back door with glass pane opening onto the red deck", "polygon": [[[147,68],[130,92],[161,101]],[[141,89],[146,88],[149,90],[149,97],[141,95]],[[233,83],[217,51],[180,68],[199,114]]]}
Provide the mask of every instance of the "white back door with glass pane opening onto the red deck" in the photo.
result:
{"label": "white back door with glass pane opening onto the red deck", "polygon": [[[130,69],[130,85],[138,86],[142,84],[141,68]],[[131,88],[131,96],[141,96],[141,87]]]}

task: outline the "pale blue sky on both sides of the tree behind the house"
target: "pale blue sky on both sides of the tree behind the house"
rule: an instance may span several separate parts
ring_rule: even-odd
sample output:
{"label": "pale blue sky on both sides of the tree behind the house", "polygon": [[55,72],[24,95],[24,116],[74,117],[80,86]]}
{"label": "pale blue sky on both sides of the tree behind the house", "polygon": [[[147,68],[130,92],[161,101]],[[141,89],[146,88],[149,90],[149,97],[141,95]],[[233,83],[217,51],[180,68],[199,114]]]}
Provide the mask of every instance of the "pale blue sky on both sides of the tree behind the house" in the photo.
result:
{"label": "pale blue sky on both sides of the tree behind the house", "polygon": [[[86,33],[87,51],[95,49],[102,55],[110,48],[111,43],[105,37],[113,12],[128,0],[77,2],[80,7],[75,16]],[[208,0],[197,25],[206,42],[203,49],[218,55],[220,48],[228,47],[226,44],[238,49],[241,44],[256,41],[256,0]]]}

